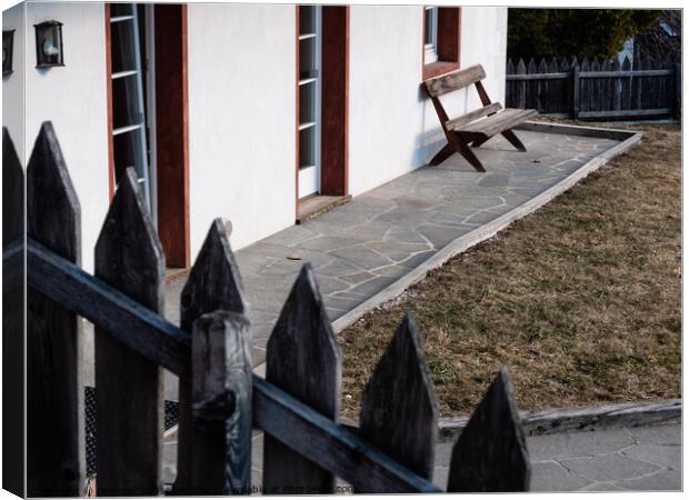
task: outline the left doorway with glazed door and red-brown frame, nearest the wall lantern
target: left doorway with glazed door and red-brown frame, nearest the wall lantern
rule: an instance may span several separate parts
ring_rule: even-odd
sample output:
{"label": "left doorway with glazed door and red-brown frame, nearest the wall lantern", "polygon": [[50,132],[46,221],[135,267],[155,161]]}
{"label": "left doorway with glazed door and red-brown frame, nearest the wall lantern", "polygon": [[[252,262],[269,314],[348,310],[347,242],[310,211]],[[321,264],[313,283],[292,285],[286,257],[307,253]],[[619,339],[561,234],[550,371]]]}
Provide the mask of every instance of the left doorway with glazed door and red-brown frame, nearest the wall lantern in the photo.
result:
{"label": "left doorway with glazed door and red-brown frame, nearest the wall lantern", "polygon": [[106,3],[106,47],[110,196],[133,167],[167,266],[187,268],[187,7]]}

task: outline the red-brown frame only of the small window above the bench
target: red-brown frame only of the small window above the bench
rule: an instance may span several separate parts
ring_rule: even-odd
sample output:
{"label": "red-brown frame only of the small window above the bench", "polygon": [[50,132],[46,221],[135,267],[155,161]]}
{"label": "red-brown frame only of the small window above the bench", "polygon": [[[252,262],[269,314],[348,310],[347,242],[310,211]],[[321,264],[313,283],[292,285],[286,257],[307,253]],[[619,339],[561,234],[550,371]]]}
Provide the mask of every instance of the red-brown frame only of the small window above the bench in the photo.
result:
{"label": "red-brown frame only of the small window above the bench", "polygon": [[[461,7],[443,7],[443,6],[425,6],[422,7],[422,80],[439,77],[459,69],[460,64],[460,46],[461,46]],[[433,60],[432,54],[427,56],[427,12],[433,9],[437,12],[433,21],[436,29],[436,47],[435,52],[437,59]]]}

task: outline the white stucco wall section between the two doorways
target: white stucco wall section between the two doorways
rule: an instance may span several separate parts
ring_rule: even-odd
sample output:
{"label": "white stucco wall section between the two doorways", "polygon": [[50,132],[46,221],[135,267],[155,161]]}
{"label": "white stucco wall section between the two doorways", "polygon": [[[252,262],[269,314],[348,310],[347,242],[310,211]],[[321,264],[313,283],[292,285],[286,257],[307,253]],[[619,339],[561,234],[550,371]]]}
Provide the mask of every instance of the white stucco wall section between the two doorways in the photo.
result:
{"label": "white stucco wall section between the two doorways", "polygon": [[242,248],[294,222],[296,8],[189,4],[189,219]]}

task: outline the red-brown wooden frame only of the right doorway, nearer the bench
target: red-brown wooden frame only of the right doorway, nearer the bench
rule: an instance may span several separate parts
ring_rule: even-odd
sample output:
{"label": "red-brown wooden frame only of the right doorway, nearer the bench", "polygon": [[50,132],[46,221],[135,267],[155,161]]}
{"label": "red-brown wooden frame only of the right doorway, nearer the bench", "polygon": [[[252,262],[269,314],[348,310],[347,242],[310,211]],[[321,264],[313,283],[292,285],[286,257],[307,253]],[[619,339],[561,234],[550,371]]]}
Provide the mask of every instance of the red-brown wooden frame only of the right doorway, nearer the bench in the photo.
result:
{"label": "red-brown wooden frame only of the right doorway, nearer the bench", "polygon": [[[296,6],[294,219],[299,213],[299,6]],[[322,6],[320,193],[349,193],[349,6]]]}

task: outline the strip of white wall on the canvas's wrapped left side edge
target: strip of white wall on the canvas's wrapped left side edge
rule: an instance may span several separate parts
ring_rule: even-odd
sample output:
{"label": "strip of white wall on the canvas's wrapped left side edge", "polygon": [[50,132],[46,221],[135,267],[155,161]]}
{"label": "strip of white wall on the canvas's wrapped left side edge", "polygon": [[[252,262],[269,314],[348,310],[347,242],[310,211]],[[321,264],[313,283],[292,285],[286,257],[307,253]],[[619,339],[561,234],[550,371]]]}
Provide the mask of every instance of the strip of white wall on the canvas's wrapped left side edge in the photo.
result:
{"label": "strip of white wall on the canvas's wrapped left side edge", "polygon": [[7,127],[17,154],[24,161],[24,32],[26,3],[2,12],[2,30],[14,30],[12,50],[13,73],[2,77],[2,126]]}

